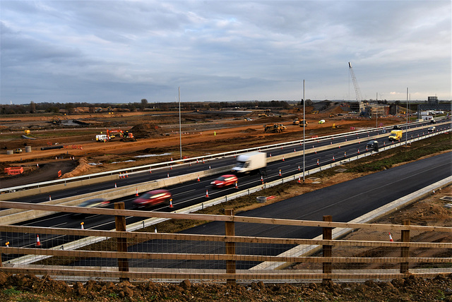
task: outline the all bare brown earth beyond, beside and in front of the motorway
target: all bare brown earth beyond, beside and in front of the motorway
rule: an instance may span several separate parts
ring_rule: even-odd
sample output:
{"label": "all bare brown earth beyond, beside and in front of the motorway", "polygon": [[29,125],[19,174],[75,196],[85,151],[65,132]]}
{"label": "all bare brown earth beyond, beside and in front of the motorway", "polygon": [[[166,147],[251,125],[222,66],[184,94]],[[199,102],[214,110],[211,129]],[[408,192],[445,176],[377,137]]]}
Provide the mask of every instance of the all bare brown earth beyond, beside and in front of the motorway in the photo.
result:
{"label": "all bare brown earth beyond, beside and in front of the motorway", "polygon": [[[309,126],[305,129],[307,137],[312,135],[326,135],[348,131],[350,127],[367,128],[374,127],[376,121],[369,119],[356,119],[350,116],[335,116],[329,118],[329,114],[343,112],[340,107],[331,108],[321,114],[307,114]],[[298,114],[298,115],[297,115]],[[345,113],[346,114],[346,113]],[[251,116],[251,115],[250,115]],[[71,116],[72,117],[72,116]],[[254,121],[244,121],[242,118],[219,118],[218,116],[208,116],[207,119],[198,123],[185,123],[182,126],[183,155],[191,157],[201,156],[208,153],[222,152],[225,150],[237,150],[242,146],[266,145],[288,140],[297,140],[303,133],[303,128],[293,126],[292,120],[300,117],[298,112],[285,112],[279,115],[266,118],[256,118]],[[29,120],[28,120],[29,118]],[[98,129],[93,128],[55,128],[32,130],[31,135],[37,140],[20,138],[23,130],[19,129],[27,124],[39,125],[42,121],[37,121],[33,117],[21,117],[20,122],[8,121],[10,125],[4,126],[2,120],[0,126],[0,151],[1,168],[10,166],[23,166],[25,174],[23,176],[5,176],[0,179],[2,187],[8,187],[11,183],[25,183],[30,177],[37,177],[40,171],[48,171],[49,179],[55,179],[55,169],[70,170],[65,176],[76,176],[81,174],[107,171],[109,169],[121,169],[132,165],[148,164],[156,161],[179,156],[179,125],[173,119],[147,119],[140,113],[121,116],[129,122],[124,128],[131,129],[142,135],[136,142],[124,143],[113,140],[107,143],[97,143],[93,140],[95,134],[99,134],[105,126],[105,121],[100,120]],[[93,119],[80,115],[76,119]],[[111,116],[105,119],[114,119]],[[141,123],[136,124],[131,121],[140,119]],[[319,124],[319,119],[326,119],[326,123]],[[380,119],[381,123],[391,125],[403,123],[403,120],[396,117]],[[42,123],[45,123],[45,119]],[[118,123],[118,121],[115,121]],[[123,124],[124,124],[123,123]],[[264,133],[263,125],[266,123],[284,123],[287,130],[284,133]],[[333,124],[335,128],[333,128]],[[121,124],[122,125],[122,124]],[[157,126],[157,128],[155,128]],[[111,127],[107,127],[111,128]],[[116,127],[117,128],[117,127]],[[15,130],[16,129],[16,130]],[[54,135],[47,135],[52,131]],[[105,127],[102,128],[105,131]],[[143,131],[144,133],[140,133]],[[11,133],[12,132],[12,133]],[[58,133],[58,134],[57,134]],[[105,132],[104,132],[105,133]],[[145,137],[148,135],[148,137]],[[215,143],[213,143],[215,142]],[[24,143],[32,145],[32,152],[20,155],[6,155],[6,150],[13,150],[16,147],[24,148]],[[39,150],[40,147],[66,145],[59,150]],[[75,146],[75,147],[74,147]],[[81,147],[79,147],[81,146]],[[127,160],[135,155],[170,153],[160,157],[137,160],[130,163]],[[204,152],[204,153],[203,153]],[[383,156],[383,155],[381,155]],[[75,157],[75,158],[74,158]],[[111,162],[121,162],[112,164]],[[64,164],[63,164],[64,163]],[[92,165],[90,163],[97,163]],[[102,163],[102,164],[98,164]],[[37,167],[39,164],[39,167]],[[47,164],[48,166],[44,166]],[[73,167],[77,165],[75,169]],[[45,167],[45,168],[44,168]],[[64,170],[64,171],[66,171]],[[44,173],[45,174],[45,173]],[[39,179],[44,177],[41,174]],[[273,202],[278,202],[285,198],[300,195],[307,191],[314,191],[323,186],[331,186],[335,183],[347,181],[349,179],[363,176],[350,174],[334,174],[324,176],[321,182],[314,184],[309,181],[303,186],[296,183],[285,188],[276,189],[276,198]],[[16,184],[17,185],[17,184]],[[429,198],[422,200],[411,207],[400,212],[384,217],[379,223],[400,224],[403,219],[410,219],[411,224],[438,225],[452,227],[451,209],[445,207],[447,202],[440,198],[444,195],[451,196],[451,187],[442,189],[432,194]],[[249,210],[251,207],[242,207],[242,210]],[[239,205],[237,205],[239,207]],[[160,231],[164,231],[159,226]],[[174,231],[174,229],[172,229]],[[435,234],[413,234],[420,241],[430,242],[451,242],[451,235],[436,236]],[[394,240],[400,240],[400,234],[393,234]],[[376,240],[386,241],[386,234],[372,234],[371,231],[355,231],[348,237],[351,240]],[[378,251],[376,251],[378,252]],[[361,250],[348,250],[344,255],[350,253],[362,253]],[[422,253],[422,250],[416,253]],[[391,255],[388,255],[391,257]],[[451,257],[451,255],[448,255]],[[303,265],[294,265],[292,268],[303,268]],[[121,282],[70,283],[52,280],[49,277],[37,278],[28,275],[11,275],[0,272],[0,300],[1,301],[452,301],[452,276],[438,276],[434,279],[421,279],[410,277],[408,279],[394,279],[391,282],[372,282],[364,284],[344,283],[335,284],[308,283],[308,284],[271,284],[263,282],[251,282],[249,284],[239,284],[237,286],[225,286],[222,284],[194,283],[188,280],[181,284],[157,284],[145,282],[143,284],[131,284]]]}

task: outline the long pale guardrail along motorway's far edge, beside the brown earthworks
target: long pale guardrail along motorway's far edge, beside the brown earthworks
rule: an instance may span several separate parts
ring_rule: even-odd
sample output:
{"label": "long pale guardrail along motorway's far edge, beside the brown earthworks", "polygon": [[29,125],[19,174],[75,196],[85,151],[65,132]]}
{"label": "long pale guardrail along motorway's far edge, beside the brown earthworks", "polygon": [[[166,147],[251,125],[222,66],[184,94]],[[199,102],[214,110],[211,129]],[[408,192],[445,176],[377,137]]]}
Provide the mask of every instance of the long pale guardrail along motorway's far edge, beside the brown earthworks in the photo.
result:
{"label": "long pale guardrail along motorway's far edge, beside the brown earthworks", "polygon": [[[418,121],[418,122],[413,122],[413,123],[409,123],[409,126],[418,126],[422,123],[425,123],[424,121]],[[400,126],[405,126],[405,124],[400,124]],[[427,126],[423,126],[424,128],[428,128],[430,125]],[[347,132],[347,133],[340,133],[340,134],[335,134],[335,135],[326,135],[326,136],[322,136],[321,138],[306,138],[304,140],[304,143],[310,143],[314,140],[318,140],[318,141],[322,141],[322,140],[330,140],[331,138],[341,138],[341,137],[345,137],[346,135],[352,135],[352,134],[361,134],[361,133],[368,133],[369,131],[375,131],[375,130],[381,130],[381,131],[388,131],[391,130],[393,126],[385,126],[385,127],[381,127],[381,128],[370,128],[370,129],[364,129],[364,130],[359,130],[359,131],[352,131],[352,132]],[[137,173],[137,172],[143,172],[143,171],[148,171],[149,169],[163,169],[165,167],[169,167],[170,165],[181,165],[181,164],[189,164],[189,162],[194,162],[196,160],[203,160],[203,159],[215,159],[215,158],[220,158],[220,157],[232,157],[234,155],[238,155],[240,153],[244,153],[244,152],[251,152],[251,151],[257,151],[257,150],[270,150],[273,148],[277,148],[277,147],[287,147],[290,145],[298,145],[300,143],[303,143],[303,140],[293,140],[287,143],[278,143],[278,144],[273,144],[273,145],[264,145],[261,147],[251,147],[251,148],[246,148],[246,149],[242,149],[242,150],[234,150],[234,151],[228,151],[228,152],[221,152],[221,153],[216,153],[213,155],[203,155],[200,157],[192,157],[192,158],[188,158],[188,159],[176,159],[174,161],[169,161],[169,162],[160,162],[160,163],[156,163],[156,164],[146,164],[143,166],[139,166],[139,167],[131,167],[128,169],[117,169],[117,170],[113,170],[113,171],[105,171],[105,172],[100,172],[100,173],[95,173],[95,174],[88,174],[88,175],[83,175],[83,176],[73,176],[73,177],[69,177],[66,179],[57,179],[54,181],[43,181],[40,183],[30,183],[28,185],[25,186],[15,186],[15,187],[11,187],[11,188],[3,188],[0,189],[0,193],[8,193],[11,191],[22,191],[22,190],[29,190],[31,188],[42,188],[45,186],[53,186],[53,185],[57,185],[57,184],[61,184],[63,186],[69,186],[69,183],[71,182],[78,182],[76,184],[76,186],[81,186],[81,181],[90,181],[90,183],[101,183],[103,181],[109,181],[112,179],[118,179],[119,174],[125,173],[126,171],[130,171],[131,173]]]}

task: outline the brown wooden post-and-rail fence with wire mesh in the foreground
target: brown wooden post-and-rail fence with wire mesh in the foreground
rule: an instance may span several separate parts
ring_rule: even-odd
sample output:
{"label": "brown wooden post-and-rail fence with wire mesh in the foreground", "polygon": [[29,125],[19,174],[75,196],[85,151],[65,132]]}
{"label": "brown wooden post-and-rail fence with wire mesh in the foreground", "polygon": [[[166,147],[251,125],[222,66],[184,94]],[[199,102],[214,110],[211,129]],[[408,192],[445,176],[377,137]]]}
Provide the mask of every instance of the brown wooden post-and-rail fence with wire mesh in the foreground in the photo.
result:
{"label": "brown wooden post-and-rail fence with wire mesh in the foreground", "polygon": [[[283,280],[284,282],[302,282],[312,280],[365,280],[365,279],[394,279],[407,277],[415,274],[418,277],[434,277],[437,274],[450,274],[452,271],[451,242],[410,242],[410,231],[417,234],[423,232],[445,232],[445,238],[450,238],[452,228],[450,227],[425,227],[410,225],[405,221],[402,225],[395,224],[354,224],[343,222],[332,222],[331,216],[323,217],[322,222],[291,220],[291,219],[268,219],[258,217],[234,216],[233,210],[225,210],[225,215],[199,215],[199,214],[177,214],[164,212],[145,212],[124,210],[124,203],[116,203],[114,209],[96,209],[83,207],[65,207],[57,205],[35,205],[28,203],[1,202],[3,208],[22,208],[29,210],[46,210],[52,212],[78,212],[101,215],[114,215],[116,230],[97,231],[91,229],[63,229],[48,227],[20,227],[13,225],[0,225],[2,234],[39,234],[52,236],[72,236],[75,241],[83,240],[85,243],[67,250],[53,246],[43,248],[42,246],[15,247],[11,244],[0,246],[2,261],[0,271],[13,273],[49,274],[62,278],[73,276],[97,277],[100,279],[161,279],[166,281],[179,281],[182,279],[210,279],[215,282],[227,282],[234,284],[242,280]],[[193,219],[203,221],[225,222],[225,235],[199,235],[199,234],[165,234],[156,232],[130,232],[126,231],[126,216],[160,217],[170,219]],[[235,236],[234,224],[236,222],[251,224],[273,224],[296,227],[316,227],[322,229],[322,238],[267,238],[256,236]],[[0,222],[1,223],[1,222]],[[381,231],[384,234],[400,232],[400,241],[350,241],[333,240],[333,228],[340,229],[371,229]],[[137,243],[149,241],[189,241],[194,245],[200,242],[215,243],[223,246],[224,253],[174,253],[153,252],[152,250],[131,251]],[[99,241],[111,241],[112,248],[95,249],[95,243]],[[9,242],[8,242],[9,243]],[[278,255],[254,255],[237,253],[237,245],[258,244],[261,246],[294,246],[297,253],[279,253]],[[359,248],[360,253],[352,251]],[[362,250],[374,250],[375,255],[362,253]],[[391,253],[381,253],[381,249],[391,250]],[[340,255],[335,255],[339,253]],[[344,253],[344,250],[347,253]],[[411,256],[413,250],[422,250],[420,256]],[[427,250],[437,250],[430,253],[434,256],[424,257]],[[378,253],[377,253],[378,252]],[[397,255],[394,255],[396,253]],[[381,257],[385,254],[385,257]],[[11,258],[11,255],[17,255]],[[36,258],[26,265],[16,261],[17,258],[34,255]],[[380,255],[380,256],[379,256]],[[387,256],[391,255],[391,256]],[[5,260],[8,258],[8,260]],[[46,262],[49,259],[60,261]],[[78,260],[105,259],[117,263],[116,266],[102,265],[71,265]],[[172,260],[174,262],[222,262],[225,269],[190,269],[152,266],[130,266],[133,263],[148,260]],[[61,262],[62,261],[62,262]],[[260,263],[246,270],[237,268],[237,262]],[[64,264],[62,264],[64,263]],[[262,263],[284,263],[272,267],[268,265],[263,268]],[[298,263],[302,268],[290,264]],[[304,267],[303,267],[304,265]],[[283,267],[289,267],[282,269]]]}

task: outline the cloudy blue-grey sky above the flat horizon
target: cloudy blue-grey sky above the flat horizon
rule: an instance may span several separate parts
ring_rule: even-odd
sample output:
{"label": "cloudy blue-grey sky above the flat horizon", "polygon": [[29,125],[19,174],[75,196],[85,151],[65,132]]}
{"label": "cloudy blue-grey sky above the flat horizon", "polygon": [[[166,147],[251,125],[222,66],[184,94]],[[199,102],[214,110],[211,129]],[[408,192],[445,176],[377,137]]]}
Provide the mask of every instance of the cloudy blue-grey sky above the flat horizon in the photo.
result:
{"label": "cloudy blue-grey sky above the flat horizon", "polygon": [[451,1],[0,1],[1,104],[451,99]]}

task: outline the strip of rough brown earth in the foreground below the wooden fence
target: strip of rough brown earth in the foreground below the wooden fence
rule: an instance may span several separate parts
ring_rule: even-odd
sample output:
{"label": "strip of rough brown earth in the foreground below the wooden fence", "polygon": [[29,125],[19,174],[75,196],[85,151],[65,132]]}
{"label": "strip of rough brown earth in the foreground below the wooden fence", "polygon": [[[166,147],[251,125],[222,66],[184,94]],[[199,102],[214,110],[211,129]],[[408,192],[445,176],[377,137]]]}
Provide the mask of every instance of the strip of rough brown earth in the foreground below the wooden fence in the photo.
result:
{"label": "strip of rough brown earth in the foreground below the wooden fence", "polygon": [[[143,281],[68,283],[0,272],[1,301],[452,301],[452,276],[391,282],[225,285]],[[32,299],[32,300],[31,300]]]}

